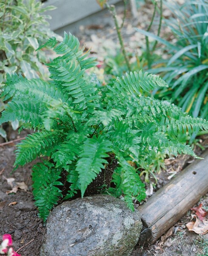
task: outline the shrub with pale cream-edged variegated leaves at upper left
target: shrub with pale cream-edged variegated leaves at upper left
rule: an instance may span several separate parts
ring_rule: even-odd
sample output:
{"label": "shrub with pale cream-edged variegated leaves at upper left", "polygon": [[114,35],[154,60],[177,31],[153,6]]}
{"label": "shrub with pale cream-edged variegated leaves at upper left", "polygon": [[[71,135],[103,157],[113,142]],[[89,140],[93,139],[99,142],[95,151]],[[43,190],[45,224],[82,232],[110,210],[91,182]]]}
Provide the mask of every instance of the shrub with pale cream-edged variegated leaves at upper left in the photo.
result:
{"label": "shrub with pale cream-edged variegated leaves at upper left", "polygon": [[[28,79],[46,78],[43,67],[46,62],[44,51],[35,52],[54,35],[43,13],[54,9],[43,8],[36,0],[0,0],[0,83],[6,81],[6,73],[21,73]],[[0,102],[0,113],[4,109]],[[17,129],[18,122],[12,122]],[[6,132],[0,127],[0,135],[6,139]]]}

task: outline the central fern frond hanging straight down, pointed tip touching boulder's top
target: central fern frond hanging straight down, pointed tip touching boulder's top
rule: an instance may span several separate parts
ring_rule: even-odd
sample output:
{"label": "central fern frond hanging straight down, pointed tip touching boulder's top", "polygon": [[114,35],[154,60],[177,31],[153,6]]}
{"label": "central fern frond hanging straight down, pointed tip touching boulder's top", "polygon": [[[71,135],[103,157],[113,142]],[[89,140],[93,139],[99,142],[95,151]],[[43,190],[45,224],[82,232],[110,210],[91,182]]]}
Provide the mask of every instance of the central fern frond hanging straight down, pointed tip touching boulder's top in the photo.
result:
{"label": "central fern frond hanging straight down, pointed tip touching boulder's top", "polygon": [[103,141],[101,137],[85,140],[76,165],[82,197],[87,186],[97,177],[101,169],[104,169],[103,163],[108,163],[104,158],[108,157],[107,152],[112,151],[110,147],[111,142],[109,140]]}

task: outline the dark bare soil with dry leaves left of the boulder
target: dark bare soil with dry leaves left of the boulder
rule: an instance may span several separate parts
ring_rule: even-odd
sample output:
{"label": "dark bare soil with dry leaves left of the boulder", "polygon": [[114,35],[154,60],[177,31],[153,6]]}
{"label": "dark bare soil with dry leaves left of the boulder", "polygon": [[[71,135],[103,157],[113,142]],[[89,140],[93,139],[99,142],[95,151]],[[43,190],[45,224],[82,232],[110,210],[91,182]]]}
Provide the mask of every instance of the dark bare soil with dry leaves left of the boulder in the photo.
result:
{"label": "dark bare soil with dry leaves left of the boulder", "polygon": [[[19,137],[26,136],[22,131]],[[11,140],[17,139],[13,132]],[[43,221],[37,216],[32,195],[31,167],[29,163],[13,174],[14,143],[0,147],[0,236],[10,233],[14,250],[22,256],[38,256],[44,231]],[[16,193],[7,192],[18,187]],[[22,188],[22,189],[21,189]]]}

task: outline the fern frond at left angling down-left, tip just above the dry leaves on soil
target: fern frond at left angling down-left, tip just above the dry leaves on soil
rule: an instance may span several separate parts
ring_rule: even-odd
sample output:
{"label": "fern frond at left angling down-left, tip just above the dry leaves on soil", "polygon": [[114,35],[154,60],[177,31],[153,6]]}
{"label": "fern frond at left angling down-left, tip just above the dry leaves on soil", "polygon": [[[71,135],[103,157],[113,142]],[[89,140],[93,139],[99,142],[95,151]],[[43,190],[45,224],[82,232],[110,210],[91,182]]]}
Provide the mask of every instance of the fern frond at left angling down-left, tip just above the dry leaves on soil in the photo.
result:
{"label": "fern frond at left angling down-left, tip just above the dry leaves on soil", "polygon": [[25,140],[17,144],[16,160],[14,165],[25,165],[36,157],[44,154],[47,148],[56,145],[60,139],[59,131],[40,131],[29,134]]}

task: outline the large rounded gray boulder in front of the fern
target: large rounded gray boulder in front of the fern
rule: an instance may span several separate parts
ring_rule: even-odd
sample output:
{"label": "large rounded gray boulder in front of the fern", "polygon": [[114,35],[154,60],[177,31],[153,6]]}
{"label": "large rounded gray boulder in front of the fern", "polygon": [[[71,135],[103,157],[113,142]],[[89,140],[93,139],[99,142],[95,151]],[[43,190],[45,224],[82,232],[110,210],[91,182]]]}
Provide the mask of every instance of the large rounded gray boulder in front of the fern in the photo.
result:
{"label": "large rounded gray boulder in front of the fern", "polygon": [[49,215],[40,256],[128,256],[141,229],[140,213],[120,199],[77,198]]}

